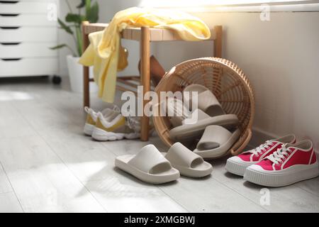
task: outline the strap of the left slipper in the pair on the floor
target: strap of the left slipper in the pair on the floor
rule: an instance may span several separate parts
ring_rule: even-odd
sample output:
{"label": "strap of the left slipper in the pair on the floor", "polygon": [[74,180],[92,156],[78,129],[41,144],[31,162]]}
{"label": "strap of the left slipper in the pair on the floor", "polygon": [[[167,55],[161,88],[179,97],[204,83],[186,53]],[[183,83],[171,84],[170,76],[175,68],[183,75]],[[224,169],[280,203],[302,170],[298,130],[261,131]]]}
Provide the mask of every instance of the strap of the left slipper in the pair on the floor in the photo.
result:
{"label": "strap of the left slipper in the pair on the floor", "polygon": [[155,145],[150,144],[143,147],[140,152],[128,162],[128,165],[142,172],[149,173],[153,167],[163,163],[167,163],[172,167],[169,161],[155,148]]}

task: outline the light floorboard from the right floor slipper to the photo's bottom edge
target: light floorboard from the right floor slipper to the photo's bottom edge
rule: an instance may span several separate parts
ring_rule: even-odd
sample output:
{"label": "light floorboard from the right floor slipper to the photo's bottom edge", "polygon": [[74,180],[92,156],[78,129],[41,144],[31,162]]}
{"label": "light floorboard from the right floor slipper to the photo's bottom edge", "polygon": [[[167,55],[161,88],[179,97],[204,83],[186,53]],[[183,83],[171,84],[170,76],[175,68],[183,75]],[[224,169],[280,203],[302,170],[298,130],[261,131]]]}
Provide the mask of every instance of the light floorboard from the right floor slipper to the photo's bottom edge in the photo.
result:
{"label": "light floorboard from the right floor slipper to the photo's bottom edge", "polygon": [[266,212],[212,177],[181,177],[178,184],[162,186],[161,189],[191,212]]}

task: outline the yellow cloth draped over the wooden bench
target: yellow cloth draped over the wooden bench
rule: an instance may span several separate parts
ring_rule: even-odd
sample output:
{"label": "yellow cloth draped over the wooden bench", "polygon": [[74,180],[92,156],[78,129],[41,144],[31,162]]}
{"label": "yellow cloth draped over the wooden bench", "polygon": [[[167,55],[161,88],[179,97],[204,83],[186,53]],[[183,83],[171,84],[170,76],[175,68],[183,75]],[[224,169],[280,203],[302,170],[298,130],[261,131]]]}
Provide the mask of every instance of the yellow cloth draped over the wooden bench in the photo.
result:
{"label": "yellow cloth draped over the wooden bench", "polygon": [[79,60],[82,65],[94,65],[94,81],[99,86],[99,97],[103,101],[113,102],[116,72],[128,65],[120,33],[127,27],[140,26],[173,29],[183,40],[206,40],[211,37],[208,26],[188,13],[137,7],[119,11],[104,31],[89,34],[91,44]]}

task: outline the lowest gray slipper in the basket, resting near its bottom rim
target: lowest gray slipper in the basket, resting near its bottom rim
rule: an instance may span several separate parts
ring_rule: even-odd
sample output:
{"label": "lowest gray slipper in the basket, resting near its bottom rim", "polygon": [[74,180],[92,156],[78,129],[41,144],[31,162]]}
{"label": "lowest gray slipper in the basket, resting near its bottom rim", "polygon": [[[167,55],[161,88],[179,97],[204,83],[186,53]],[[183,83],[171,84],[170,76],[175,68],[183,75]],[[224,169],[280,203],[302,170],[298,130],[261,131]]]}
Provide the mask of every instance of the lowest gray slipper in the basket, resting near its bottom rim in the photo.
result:
{"label": "lowest gray slipper in the basket, resting near its bottom rim", "polygon": [[228,130],[221,126],[208,126],[194,153],[206,159],[222,157],[228,154],[228,151],[239,137],[240,130],[238,128]]}

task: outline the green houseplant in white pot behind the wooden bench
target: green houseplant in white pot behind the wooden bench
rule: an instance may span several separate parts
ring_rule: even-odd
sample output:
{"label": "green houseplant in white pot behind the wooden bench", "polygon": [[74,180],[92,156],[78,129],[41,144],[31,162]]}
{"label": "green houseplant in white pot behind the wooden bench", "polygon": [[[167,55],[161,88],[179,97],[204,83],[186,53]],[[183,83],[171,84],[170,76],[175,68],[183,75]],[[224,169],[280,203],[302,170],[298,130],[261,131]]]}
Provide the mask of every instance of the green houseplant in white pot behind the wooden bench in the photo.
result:
{"label": "green houseplant in white pot behind the wooden bench", "polygon": [[[76,51],[74,51],[67,44],[59,44],[52,47],[52,50],[61,48],[68,48],[72,55],[67,55],[67,70],[69,72],[69,82],[73,92],[83,92],[83,67],[79,65],[79,56],[82,55],[83,43],[82,43],[82,21],[89,21],[90,23],[96,23],[99,20],[99,4],[97,1],[91,2],[91,0],[81,0],[76,9],[72,10],[69,1],[66,0],[69,13],[65,16],[65,21],[60,18],[57,19],[59,26],[67,34],[72,35]],[[94,83],[90,84],[90,91],[96,92],[97,87]]]}

